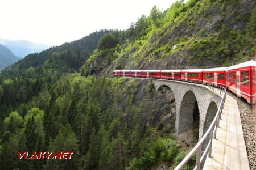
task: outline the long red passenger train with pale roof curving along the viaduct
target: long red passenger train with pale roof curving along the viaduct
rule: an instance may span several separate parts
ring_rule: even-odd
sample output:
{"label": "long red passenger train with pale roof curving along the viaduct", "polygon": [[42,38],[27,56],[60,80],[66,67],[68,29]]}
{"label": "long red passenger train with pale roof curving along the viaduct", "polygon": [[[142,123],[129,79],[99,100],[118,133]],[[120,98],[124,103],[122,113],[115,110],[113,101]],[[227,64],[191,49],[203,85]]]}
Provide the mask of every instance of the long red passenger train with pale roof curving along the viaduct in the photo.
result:
{"label": "long red passenger train with pale roof curving along the viaduct", "polygon": [[251,60],[230,67],[190,70],[114,70],[113,76],[183,80],[221,86],[255,103],[256,62]]}

